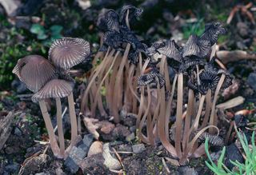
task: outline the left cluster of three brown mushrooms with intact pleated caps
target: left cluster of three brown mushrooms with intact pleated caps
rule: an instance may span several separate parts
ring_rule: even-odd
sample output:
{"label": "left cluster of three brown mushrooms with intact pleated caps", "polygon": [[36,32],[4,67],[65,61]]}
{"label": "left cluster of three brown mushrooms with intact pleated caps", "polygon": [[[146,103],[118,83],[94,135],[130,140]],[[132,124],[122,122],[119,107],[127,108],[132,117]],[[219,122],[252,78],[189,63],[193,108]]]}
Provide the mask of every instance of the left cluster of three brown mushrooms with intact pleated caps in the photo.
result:
{"label": "left cluster of three brown mushrooms with intact pleated caps", "polygon": [[[74,110],[73,88],[74,80],[70,77],[70,68],[78,65],[88,58],[90,44],[81,38],[57,39],[50,46],[49,58],[40,55],[29,55],[18,60],[13,73],[24,82],[34,95],[32,101],[39,102],[42,116],[50,138],[50,146],[55,157],[65,158],[67,153],[76,144],[78,139],[78,121]],[[65,139],[62,129],[62,104],[61,99],[68,98],[71,141],[65,149]],[[54,98],[57,109],[58,141],[50,115],[46,108],[46,99]],[[58,146],[59,143],[59,146]]]}

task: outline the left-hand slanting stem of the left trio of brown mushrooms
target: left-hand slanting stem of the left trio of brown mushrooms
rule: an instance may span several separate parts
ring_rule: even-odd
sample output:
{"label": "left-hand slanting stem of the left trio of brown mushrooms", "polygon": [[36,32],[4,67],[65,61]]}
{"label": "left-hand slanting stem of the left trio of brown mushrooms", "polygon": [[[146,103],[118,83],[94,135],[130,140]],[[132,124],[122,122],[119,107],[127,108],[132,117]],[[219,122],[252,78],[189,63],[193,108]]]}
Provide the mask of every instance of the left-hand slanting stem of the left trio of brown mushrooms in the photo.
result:
{"label": "left-hand slanting stem of the left trio of brown mushrooms", "polygon": [[46,107],[46,101],[44,101],[44,100],[39,101],[39,105],[40,105],[40,109],[42,112],[42,117],[46,123],[47,132],[49,134],[50,148],[53,151],[55,157],[62,158],[60,155],[60,149],[58,147],[58,143],[57,143],[57,140],[56,140],[56,137],[54,134],[54,127],[51,124],[50,115],[49,115],[47,107]]}

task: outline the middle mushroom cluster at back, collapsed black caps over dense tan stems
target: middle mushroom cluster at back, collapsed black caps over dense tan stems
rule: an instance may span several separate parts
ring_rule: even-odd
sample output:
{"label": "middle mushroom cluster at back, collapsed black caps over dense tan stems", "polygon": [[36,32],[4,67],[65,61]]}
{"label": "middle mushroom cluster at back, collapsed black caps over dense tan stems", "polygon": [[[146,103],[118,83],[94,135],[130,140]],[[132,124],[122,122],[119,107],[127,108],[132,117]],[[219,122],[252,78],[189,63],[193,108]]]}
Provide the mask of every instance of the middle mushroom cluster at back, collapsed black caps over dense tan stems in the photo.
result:
{"label": "middle mushroom cluster at back, collapsed black caps over dense tan stems", "polygon": [[[98,16],[98,28],[103,32],[102,46],[93,62],[100,64],[91,75],[82,97],[81,113],[85,116],[114,116],[119,122],[120,111],[138,112],[136,94],[142,58],[147,57],[146,44],[130,30],[130,21],[138,18],[142,10],[123,6],[120,12],[105,10]],[[105,89],[106,94],[102,94]],[[131,95],[132,94],[132,95]],[[106,106],[103,106],[106,101]]]}

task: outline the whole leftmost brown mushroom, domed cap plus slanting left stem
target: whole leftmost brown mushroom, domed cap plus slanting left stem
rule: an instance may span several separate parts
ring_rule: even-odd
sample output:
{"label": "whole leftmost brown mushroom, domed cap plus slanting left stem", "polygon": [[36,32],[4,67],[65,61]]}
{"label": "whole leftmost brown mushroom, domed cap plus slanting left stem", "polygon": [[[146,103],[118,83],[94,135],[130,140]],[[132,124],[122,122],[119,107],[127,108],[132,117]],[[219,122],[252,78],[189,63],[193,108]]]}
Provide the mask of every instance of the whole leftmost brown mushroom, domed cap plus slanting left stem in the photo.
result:
{"label": "whole leftmost brown mushroom, domed cap plus slanting left stem", "polygon": [[[29,55],[19,59],[17,65],[14,67],[13,73],[34,93],[37,93],[50,79],[56,78],[54,66],[40,55]],[[50,147],[54,156],[60,157],[60,149],[54,134],[53,125],[50,121],[49,113],[46,109],[46,103],[45,101],[40,101],[39,105],[49,134]]]}

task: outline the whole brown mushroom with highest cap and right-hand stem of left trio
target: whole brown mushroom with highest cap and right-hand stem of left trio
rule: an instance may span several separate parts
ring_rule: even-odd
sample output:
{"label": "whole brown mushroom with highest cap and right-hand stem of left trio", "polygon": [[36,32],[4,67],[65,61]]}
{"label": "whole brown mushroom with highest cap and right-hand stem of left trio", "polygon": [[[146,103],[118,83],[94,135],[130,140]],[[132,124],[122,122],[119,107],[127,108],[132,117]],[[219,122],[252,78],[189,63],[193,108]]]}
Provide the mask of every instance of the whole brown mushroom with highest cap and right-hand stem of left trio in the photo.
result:
{"label": "whole brown mushroom with highest cap and right-hand stem of left trio", "polygon": [[[71,67],[84,61],[90,54],[90,44],[81,38],[57,39],[50,46],[49,59],[58,68],[58,74],[68,74]],[[65,77],[65,76],[64,76]],[[74,111],[73,93],[68,95],[71,122],[71,145],[78,137],[78,121]]]}

